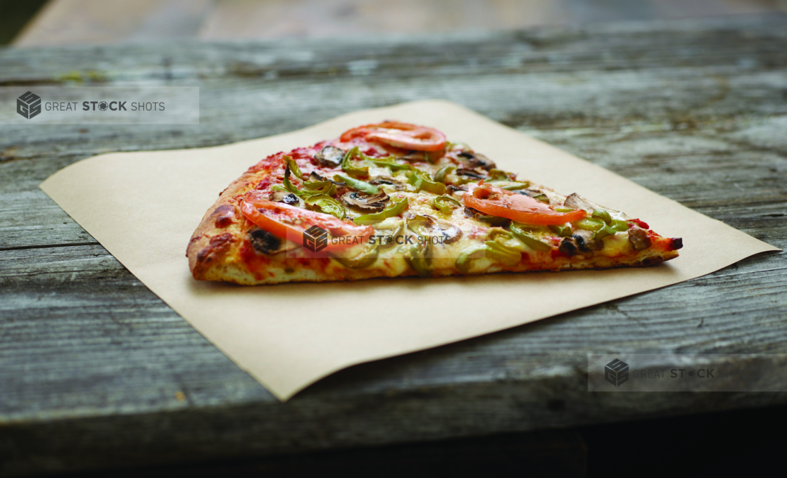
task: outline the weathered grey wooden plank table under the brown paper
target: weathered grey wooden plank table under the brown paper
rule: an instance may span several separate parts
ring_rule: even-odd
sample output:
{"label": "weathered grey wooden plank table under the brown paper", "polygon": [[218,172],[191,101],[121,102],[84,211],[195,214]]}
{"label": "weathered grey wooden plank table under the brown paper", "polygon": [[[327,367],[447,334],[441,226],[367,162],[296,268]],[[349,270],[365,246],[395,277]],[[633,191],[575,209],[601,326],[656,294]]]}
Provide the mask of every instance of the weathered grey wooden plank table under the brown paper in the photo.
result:
{"label": "weathered grey wooden plank table under the brown paper", "polygon": [[99,153],[219,145],[441,97],[785,248],[785,52],[784,16],[0,50],[0,86],[198,85],[202,115],[198,126],[0,127],[0,469],[281,454],[787,402],[586,391],[589,352],[787,352],[781,253],[355,366],[279,403],[38,189]]}

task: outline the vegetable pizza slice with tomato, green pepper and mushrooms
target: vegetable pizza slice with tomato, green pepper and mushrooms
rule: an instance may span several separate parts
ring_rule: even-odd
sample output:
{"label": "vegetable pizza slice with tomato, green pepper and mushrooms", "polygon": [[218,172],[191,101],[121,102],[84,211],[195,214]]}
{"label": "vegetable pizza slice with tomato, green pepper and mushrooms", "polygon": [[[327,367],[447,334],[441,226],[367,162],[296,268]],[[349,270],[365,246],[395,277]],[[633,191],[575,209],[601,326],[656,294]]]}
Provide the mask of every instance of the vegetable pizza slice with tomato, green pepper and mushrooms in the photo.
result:
{"label": "vegetable pizza slice with tomato, green pepper and mushrooms", "polygon": [[386,121],[249,168],[207,211],[187,257],[195,279],[252,285],[640,267],[681,247],[434,128]]}

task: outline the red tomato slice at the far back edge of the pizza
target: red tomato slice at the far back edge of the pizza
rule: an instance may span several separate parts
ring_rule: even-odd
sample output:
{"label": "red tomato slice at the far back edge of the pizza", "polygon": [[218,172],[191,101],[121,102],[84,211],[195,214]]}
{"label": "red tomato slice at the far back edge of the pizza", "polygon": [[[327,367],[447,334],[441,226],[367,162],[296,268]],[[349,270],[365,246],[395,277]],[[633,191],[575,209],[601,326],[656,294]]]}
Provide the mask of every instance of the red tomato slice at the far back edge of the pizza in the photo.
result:
{"label": "red tomato slice at the far back edge of the pizza", "polygon": [[434,128],[399,121],[383,121],[353,128],[342,133],[340,139],[347,142],[358,137],[416,151],[438,151],[443,149],[446,141],[445,134]]}

